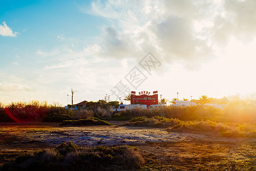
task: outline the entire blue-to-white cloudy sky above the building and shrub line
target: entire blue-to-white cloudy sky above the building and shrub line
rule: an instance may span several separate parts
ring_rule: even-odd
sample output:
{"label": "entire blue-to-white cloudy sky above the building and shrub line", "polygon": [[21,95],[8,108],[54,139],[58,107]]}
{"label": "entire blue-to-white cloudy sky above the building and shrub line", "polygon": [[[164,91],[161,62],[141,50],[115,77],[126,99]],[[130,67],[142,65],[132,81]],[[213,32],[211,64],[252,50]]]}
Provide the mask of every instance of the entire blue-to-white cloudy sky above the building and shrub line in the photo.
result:
{"label": "entire blue-to-white cloudy sky above the building and shrub line", "polygon": [[[256,1],[0,1],[0,102],[256,99]],[[191,97],[192,96],[192,97]],[[107,97],[107,99],[108,99]]]}

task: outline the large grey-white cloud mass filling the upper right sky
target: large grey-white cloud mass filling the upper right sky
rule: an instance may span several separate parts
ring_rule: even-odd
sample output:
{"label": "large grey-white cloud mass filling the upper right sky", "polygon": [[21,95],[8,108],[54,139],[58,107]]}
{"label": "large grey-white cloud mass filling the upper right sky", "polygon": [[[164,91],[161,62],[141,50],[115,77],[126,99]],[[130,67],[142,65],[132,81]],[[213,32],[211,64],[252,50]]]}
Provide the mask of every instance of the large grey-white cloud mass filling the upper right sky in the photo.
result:
{"label": "large grey-white cloud mass filling the upper right sky", "polygon": [[100,55],[141,59],[149,51],[162,63],[195,69],[213,59],[231,37],[256,34],[256,1],[95,1],[84,13],[108,19]]}

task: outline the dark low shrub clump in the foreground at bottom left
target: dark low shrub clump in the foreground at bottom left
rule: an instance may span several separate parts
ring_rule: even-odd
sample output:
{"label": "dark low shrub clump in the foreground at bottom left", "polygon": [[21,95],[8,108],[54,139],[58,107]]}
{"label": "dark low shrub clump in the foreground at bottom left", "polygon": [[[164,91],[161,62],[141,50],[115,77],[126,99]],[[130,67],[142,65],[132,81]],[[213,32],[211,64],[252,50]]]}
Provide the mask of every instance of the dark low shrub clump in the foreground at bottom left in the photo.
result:
{"label": "dark low shrub clump in the foreground at bottom left", "polygon": [[22,154],[4,164],[0,170],[128,170],[140,168],[144,158],[134,146],[97,146],[82,148],[62,143],[54,150]]}

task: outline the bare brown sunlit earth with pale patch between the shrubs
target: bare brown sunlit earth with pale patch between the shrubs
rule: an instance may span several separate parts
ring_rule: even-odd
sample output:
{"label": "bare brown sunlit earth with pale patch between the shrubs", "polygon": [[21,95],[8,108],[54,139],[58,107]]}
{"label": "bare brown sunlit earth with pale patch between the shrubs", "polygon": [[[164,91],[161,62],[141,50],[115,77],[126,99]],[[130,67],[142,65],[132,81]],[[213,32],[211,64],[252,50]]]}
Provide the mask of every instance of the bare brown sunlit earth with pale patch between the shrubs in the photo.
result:
{"label": "bare brown sunlit earth with pale patch between the shrubs", "polygon": [[0,165],[21,153],[72,141],[81,146],[135,145],[142,170],[256,170],[256,139],[212,133],[167,132],[161,128],[119,126],[64,127],[59,123],[0,123]]}

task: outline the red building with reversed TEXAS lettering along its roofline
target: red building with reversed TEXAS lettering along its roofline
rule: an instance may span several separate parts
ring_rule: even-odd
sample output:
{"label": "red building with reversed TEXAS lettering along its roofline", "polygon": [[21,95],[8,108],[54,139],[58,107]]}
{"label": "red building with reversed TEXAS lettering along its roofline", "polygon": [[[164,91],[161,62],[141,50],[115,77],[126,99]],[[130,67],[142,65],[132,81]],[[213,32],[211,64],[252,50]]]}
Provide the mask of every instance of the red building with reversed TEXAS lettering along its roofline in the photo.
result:
{"label": "red building with reversed TEXAS lettering along its roofline", "polygon": [[135,95],[135,92],[131,93],[131,104],[146,104],[147,108],[149,108],[152,104],[159,104],[158,94],[155,91],[155,94],[149,95],[150,92],[141,91],[139,92],[139,96]]}

